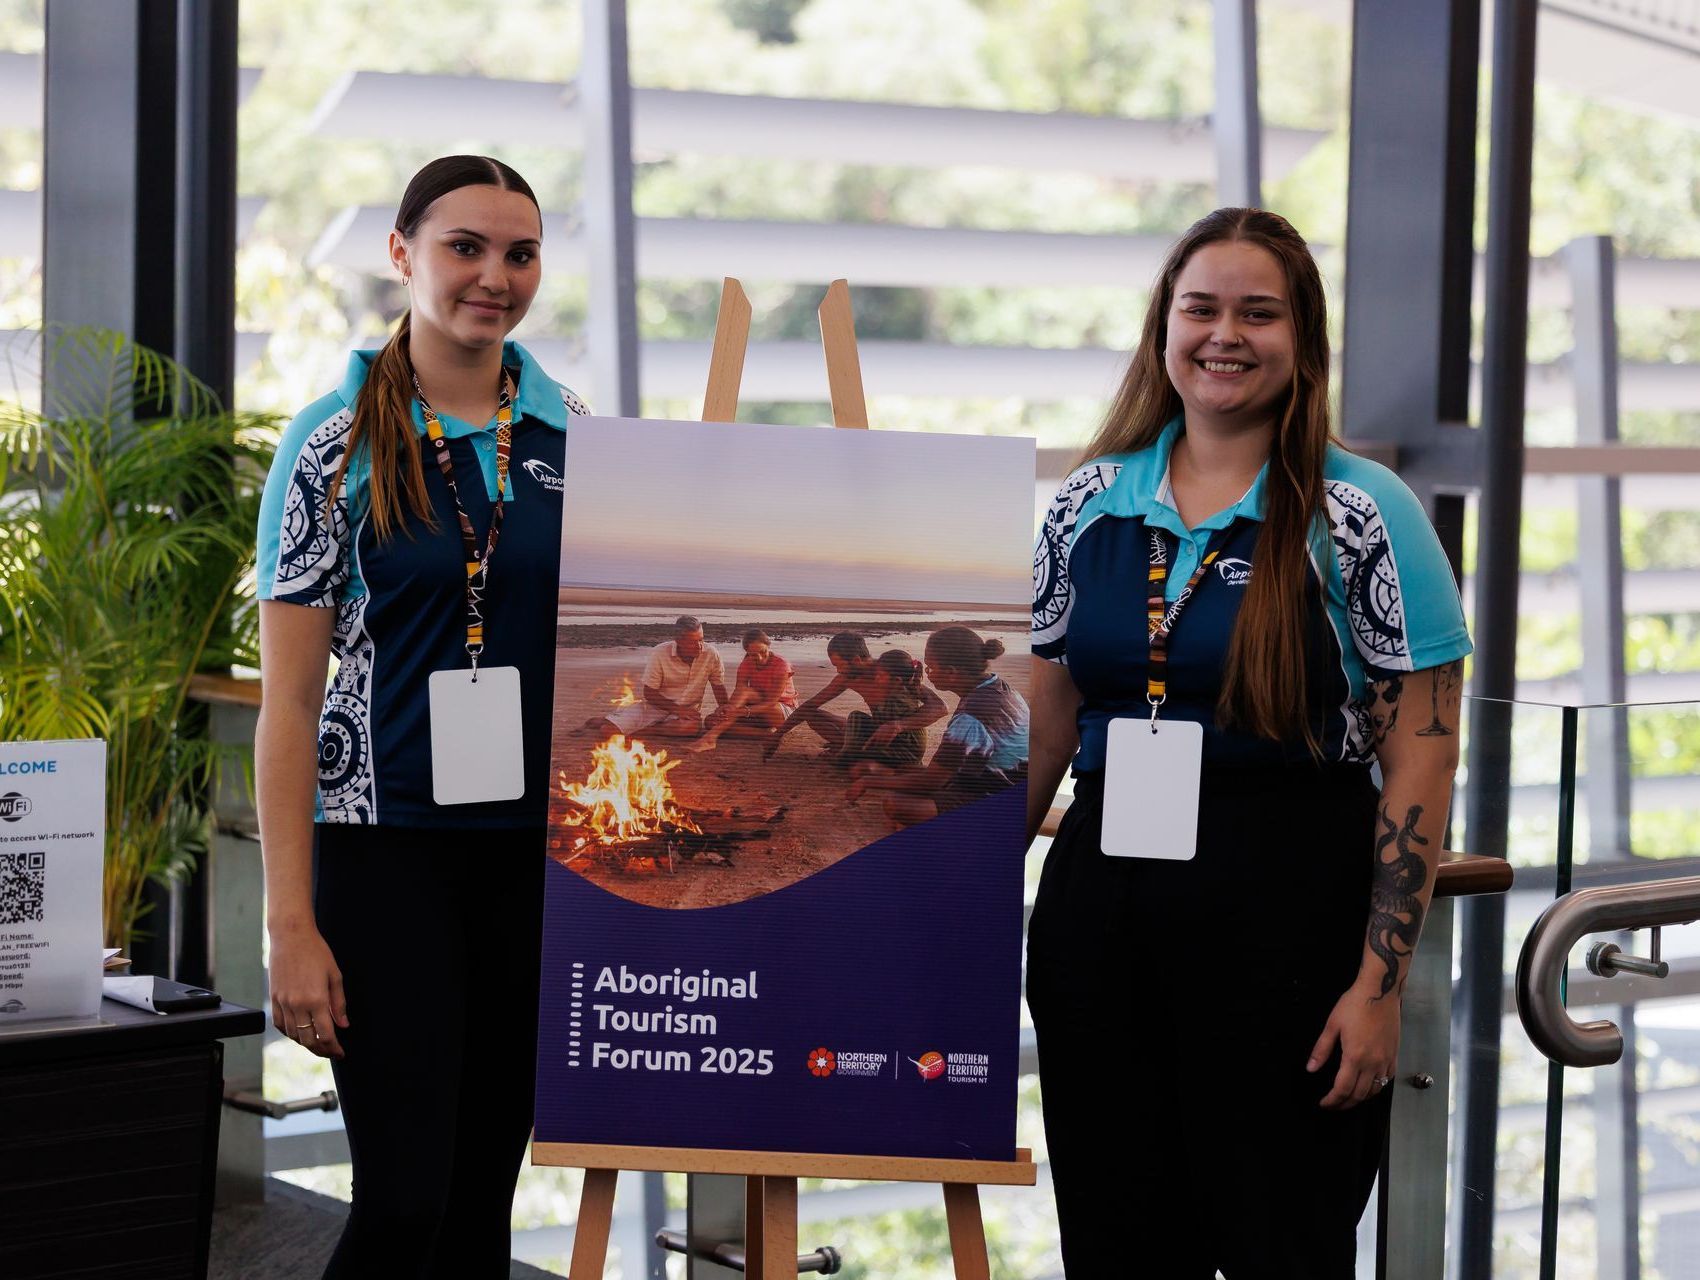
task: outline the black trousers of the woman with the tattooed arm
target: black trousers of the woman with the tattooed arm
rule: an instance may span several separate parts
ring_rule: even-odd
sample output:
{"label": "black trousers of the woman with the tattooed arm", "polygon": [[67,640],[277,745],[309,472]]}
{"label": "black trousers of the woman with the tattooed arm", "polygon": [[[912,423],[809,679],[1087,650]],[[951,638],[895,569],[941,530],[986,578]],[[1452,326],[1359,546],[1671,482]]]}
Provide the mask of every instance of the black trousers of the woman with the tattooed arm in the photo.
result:
{"label": "black trousers of the woman with the tattooed arm", "polygon": [[1368,770],[1209,768],[1192,862],[1100,850],[1081,777],[1027,950],[1071,1280],[1350,1280],[1389,1096],[1318,1102],[1363,949]]}

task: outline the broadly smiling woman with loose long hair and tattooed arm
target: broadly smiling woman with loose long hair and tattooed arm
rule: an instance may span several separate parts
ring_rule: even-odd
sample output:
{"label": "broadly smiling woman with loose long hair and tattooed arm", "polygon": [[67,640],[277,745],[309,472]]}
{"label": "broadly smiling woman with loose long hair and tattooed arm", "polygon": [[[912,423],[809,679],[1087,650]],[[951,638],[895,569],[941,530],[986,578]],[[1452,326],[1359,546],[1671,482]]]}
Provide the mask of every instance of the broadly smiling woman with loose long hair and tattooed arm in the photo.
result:
{"label": "broadly smiling woman with loose long hair and tattooed arm", "polygon": [[1027,998],[1069,1277],[1353,1275],[1470,643],[1328,374],[1304,240],[1217,209],[1040,529],[1028,838],[1074,799]]}

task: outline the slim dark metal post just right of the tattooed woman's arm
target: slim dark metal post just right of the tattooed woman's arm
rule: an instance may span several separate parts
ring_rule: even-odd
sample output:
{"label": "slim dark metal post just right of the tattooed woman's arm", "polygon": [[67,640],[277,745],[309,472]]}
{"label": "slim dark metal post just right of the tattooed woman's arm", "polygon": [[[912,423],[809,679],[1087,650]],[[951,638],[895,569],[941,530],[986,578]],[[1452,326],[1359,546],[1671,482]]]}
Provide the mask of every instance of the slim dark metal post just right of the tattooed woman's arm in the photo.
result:
{"label": "slim dark metal post just right of the tattooed woman's arm", "polygon": [[[1523,524],[1523,384],[1528,347],[1528,214],[1535,122],[1535,0],[1499,0],[1493,17],[1488,167],[1486,323],[1482,337],[1482,488],[1477,507],[1476,666],[1470,773],[1472,853],[1504,857],[1511,717],[1481,699],[1516,697],[1516,590]],[[1469,1069],[1459,1090],[1454,1256],[1460,1277],[1493,1273],[1494,1158],[1499,1132],[1499,1028],[1504,1010],[1504,899],[1462,911],[1467,969],[1460,1028]]]}

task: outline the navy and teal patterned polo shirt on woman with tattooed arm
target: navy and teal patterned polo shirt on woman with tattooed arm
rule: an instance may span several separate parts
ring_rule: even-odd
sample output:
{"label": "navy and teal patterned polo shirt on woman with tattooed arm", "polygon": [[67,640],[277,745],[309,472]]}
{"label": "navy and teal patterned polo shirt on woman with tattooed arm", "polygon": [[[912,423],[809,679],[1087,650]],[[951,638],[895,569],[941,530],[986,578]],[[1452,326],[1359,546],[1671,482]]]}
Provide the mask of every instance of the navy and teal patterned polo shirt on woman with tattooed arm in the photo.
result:
{"label": "navy and teal patterned polo shirt on woman with tattooed arm", "polygon": [[[1083,702],[1074,772],[1103,768],[1108,724],[1146,705],[1146,575],[1151,537],[1170,551],[1173,602],[1207,546],[1221,554],[1168,643],[1164,719],[1204,726],[1209,765],[1295,763],[1282,745],[1216,724],[1227,644],[1256,571],[1268,464],[1232,507],[1187,529],[1175,512],[1168,461],[1182,420],[1132,454],[1078,467],[1057,491],[1034,552],[1034,653],[1066,663]],[[1470,651],[1452,568],[1416,496],[1392,471],[1333,444],[1323,466],[1324,510],[1311,539],[1307,688],[1328,762],[1368,763],[1370,682],[1423,671]]]}

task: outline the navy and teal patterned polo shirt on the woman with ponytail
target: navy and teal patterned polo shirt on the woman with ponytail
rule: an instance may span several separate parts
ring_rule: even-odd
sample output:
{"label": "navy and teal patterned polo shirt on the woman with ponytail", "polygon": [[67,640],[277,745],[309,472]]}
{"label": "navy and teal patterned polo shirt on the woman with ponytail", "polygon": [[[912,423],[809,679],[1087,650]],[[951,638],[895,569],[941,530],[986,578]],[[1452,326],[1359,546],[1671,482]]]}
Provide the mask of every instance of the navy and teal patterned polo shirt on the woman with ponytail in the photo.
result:
{"label": "navy and teal patterned polo shirt on the woman with ponytail", "polygon": [[[337,610],[337,675],[320,716],[314,816],[321,823],[541,826],[554,705],[566,423],[588,410],[524,347],[503,347],[517,388],[513,442],[479,661],[520,671],[525,794],[517,801],[439,806],[432,799],[427,682],[432,671],[468,665],[466,568],[449,486],[423,459],[437,529],[410,517],[401,532],[381,542],[369,520],[369,459],[357,454],[333,508],[325,510],[354,423],[354,401],[376,355],[354,352],[342,386],[289,423],[260,507],[258,597]],[[416,399],[413,430],[425,435]],[[461,501],[483,546],[496,500],[495,418],[474,427],[442,416],[442,430]],[[478,474],[483,484],[473,479]]]}

